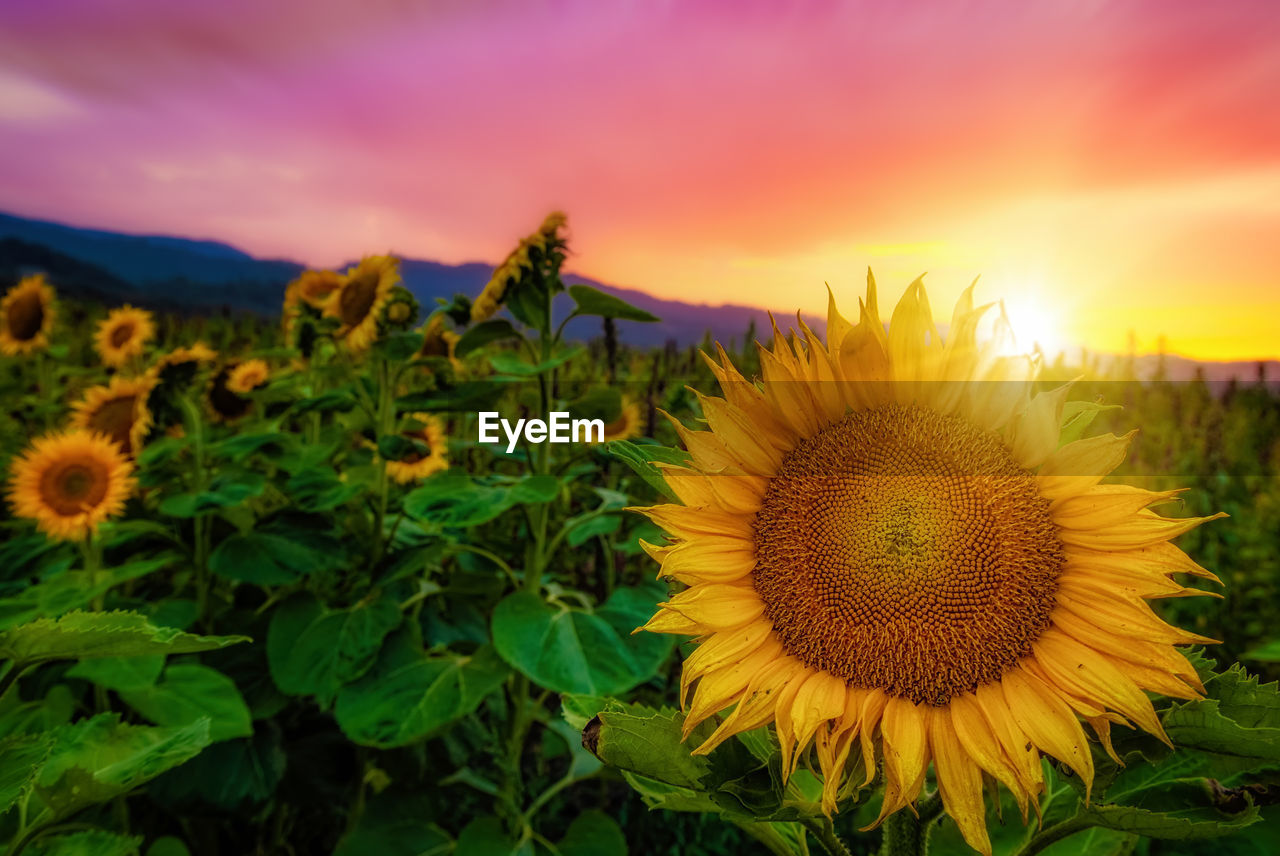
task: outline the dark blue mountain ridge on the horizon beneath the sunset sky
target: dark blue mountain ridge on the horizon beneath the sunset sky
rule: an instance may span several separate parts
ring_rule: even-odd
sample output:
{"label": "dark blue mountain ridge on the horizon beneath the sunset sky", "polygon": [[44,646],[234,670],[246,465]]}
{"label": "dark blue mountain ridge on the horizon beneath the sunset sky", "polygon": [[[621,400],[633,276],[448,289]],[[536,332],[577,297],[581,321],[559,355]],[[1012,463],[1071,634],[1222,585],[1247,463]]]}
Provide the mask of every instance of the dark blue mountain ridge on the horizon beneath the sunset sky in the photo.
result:
{"label": "dark blue mountain ridge on the horizon beneath the sunset sky", "polygon": [[[132,301],[191,312],[225,307],[274,315],[279,312],[284,285],[303,266],[284,260],[255,258],[215,241],[131,235],[0,214],[0,280],[12,280],[36,270],[47,273],[68,293],[92,299]],[[431,307],[436,298],[449,299],[457,293],[479,294],[493,274],[493,265],[445,265],[406,258],[401,273],[404,287],[425,307]],[[768,329],[767,312],[756,307],[668,301],[576,274],[566,274],[564,281],[591,285],[662,319],[660,324],[621,321],[620,337],[634,345],[648,347],[668,340],[694,344],[708,333],[723,342],[741,339],[753,321],[756,329]],[[567,308],[562,311],[567,312]],[[806,320],[820,329],[817,319]],[[596,337],[600,321],[577,319],[570,322],[566,331],[572,338]]]}

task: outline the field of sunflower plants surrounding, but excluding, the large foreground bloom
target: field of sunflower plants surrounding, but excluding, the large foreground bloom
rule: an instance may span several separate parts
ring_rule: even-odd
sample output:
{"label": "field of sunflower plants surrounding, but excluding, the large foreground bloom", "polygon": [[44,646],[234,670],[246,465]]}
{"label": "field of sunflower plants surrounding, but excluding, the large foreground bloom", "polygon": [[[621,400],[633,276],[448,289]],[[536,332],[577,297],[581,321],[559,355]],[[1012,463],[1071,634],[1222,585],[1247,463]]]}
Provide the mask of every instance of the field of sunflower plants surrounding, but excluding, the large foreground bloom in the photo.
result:
{"label": "field of sunflower plants surrounding, but excluding, the large foreground bloom", "polygon": [[[563,226],[552,215],[481,296],[439,307],[389,257],[308,271],[283,320],[0,283],[6,856],[974,852],[963,788],[925,773],[942,738],[876,828],[911,777],[867,754],[874,723],[833,782],[836,738],[796,728],[780,746],[772,719],[690,755],[728,705],[684,728],[681,664],[703,650],[684,642],[700,633],[632,632],[689,581],[657,578],[671,518],[628,509],[695,504],[672,467],[686,447],[712,454],[689,429],[727,418],[698,393],[718,393],[724,361],[768,375],[787,345],[744,331],[718,357],[704,345],[714,362],[621,345],[618,325],[660,320],[566,289]],[[562,340],[553,303],[600,337]],[[1222,585],[1166,592],[1222,598],[1151,600],[1220,644],[1180,649],[1203,699],[1151,695],[1176,749],[1112,713],[1108,741],[1088,732],[1091,792],[1084,761],[1048,750],[1029,812],[986,775],[989,848],[1276,852],[1280,397],[1263,379],[1132,383],[1061,360],[1037,389],[1068,380],[1055,438],[1060,422],[1064,444],[1139,429],[1108,482],[1189,489],[1169,517],[1229,514],[1176,540]],[[566,411],[604,436],[508,450],[477,441],[489,411]]]}

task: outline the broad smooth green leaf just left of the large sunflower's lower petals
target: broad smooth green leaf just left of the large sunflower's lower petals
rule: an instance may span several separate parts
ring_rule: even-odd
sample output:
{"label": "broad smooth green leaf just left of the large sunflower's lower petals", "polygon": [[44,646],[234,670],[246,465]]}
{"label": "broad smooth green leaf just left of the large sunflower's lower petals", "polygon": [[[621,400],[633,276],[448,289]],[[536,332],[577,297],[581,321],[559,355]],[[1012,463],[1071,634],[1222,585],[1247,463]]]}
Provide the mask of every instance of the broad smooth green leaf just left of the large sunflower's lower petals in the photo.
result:
{"label": "broad smooth green leaf just left of the large sunflower's lower petals", "polygon": [[626,692],[653,677],[673,646],[667,636],[631,635],[653,615],[657,589],[618,589],[595,613],[553,606],[531,591],[517,591],[493,613],[494,647],[548,690]]}

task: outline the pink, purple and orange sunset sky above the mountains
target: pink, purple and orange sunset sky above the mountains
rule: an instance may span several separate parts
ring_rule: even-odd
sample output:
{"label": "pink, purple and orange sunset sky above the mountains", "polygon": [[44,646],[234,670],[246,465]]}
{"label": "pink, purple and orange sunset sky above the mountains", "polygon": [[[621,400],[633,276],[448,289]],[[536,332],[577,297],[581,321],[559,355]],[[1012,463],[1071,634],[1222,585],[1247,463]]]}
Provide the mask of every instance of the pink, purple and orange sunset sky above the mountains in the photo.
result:
{"label": "pink, purple and orange sunset sky above the mountains", "polygon": [[0,210],[334,265],[558,207],[664,297],[1277,357],[1277,102],[1275,0],[5,0]]}

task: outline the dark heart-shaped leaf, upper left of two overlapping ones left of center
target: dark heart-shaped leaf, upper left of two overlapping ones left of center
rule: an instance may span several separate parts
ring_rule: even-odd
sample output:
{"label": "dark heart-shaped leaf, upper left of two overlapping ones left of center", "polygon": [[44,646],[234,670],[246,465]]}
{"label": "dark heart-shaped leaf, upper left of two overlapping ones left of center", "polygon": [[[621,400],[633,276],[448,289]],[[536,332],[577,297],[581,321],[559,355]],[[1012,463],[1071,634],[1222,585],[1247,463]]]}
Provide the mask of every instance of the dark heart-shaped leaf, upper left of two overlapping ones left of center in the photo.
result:
{"label": "dark heart-shaped leaf, upper left of two overlapping ones left of center", "polygon": [[328,708],[343,685],[364,676],[383,640],[401,623],[399,606],[378,598],[349,609],[326,609],[300,594],[280,604],[266,633],[271,679],[287,695],[311,695]]}

